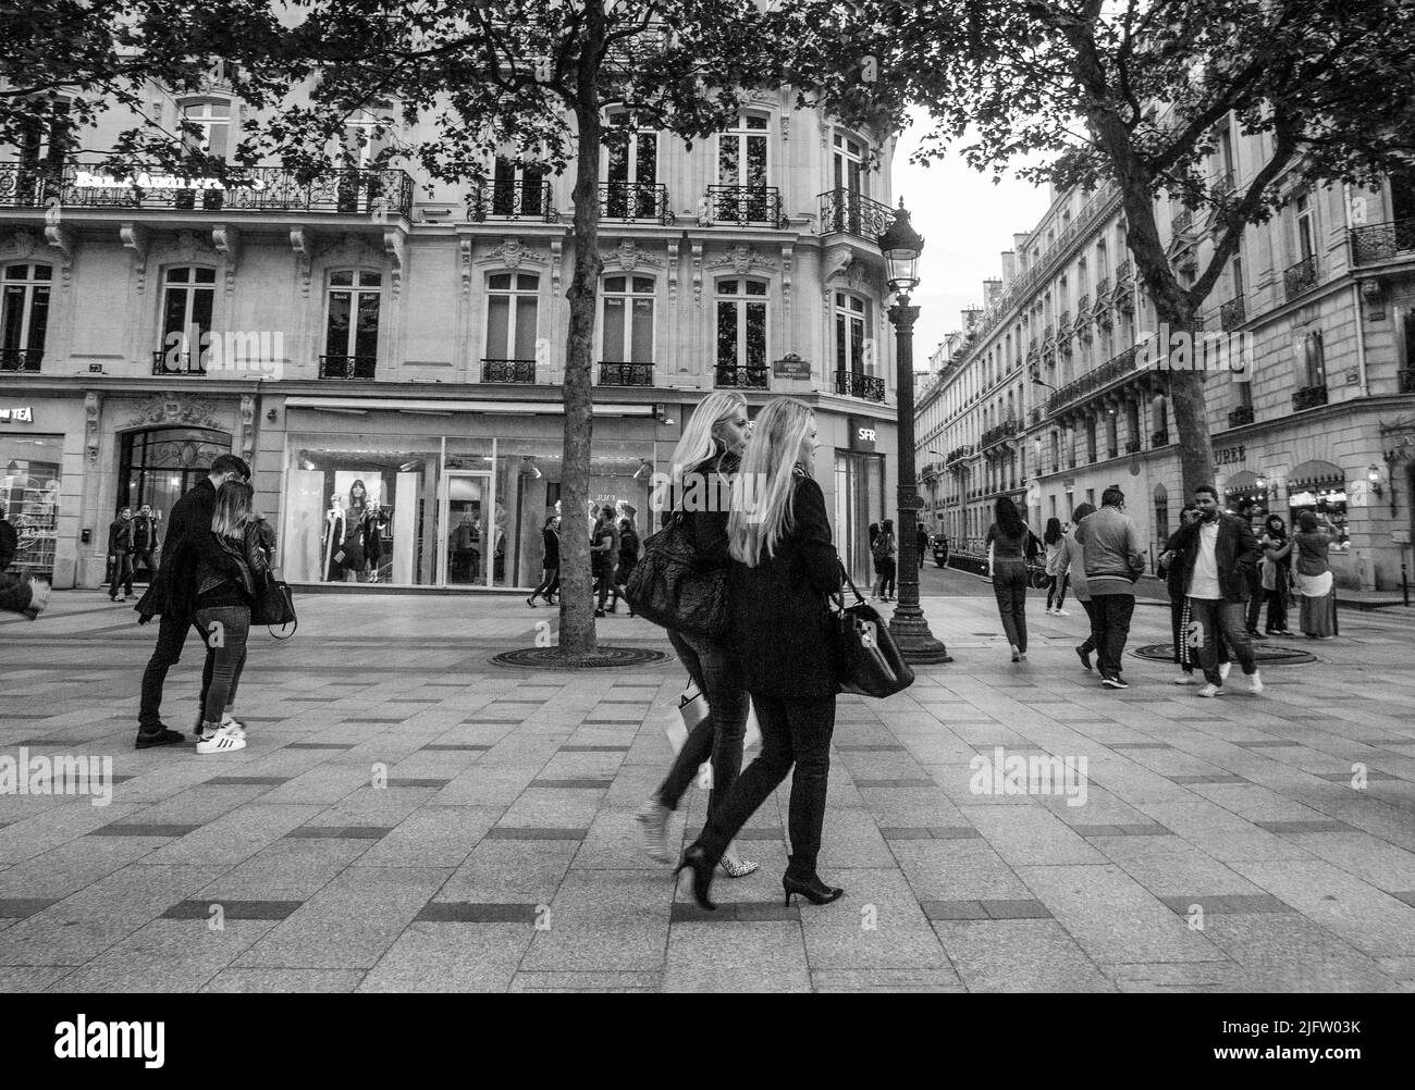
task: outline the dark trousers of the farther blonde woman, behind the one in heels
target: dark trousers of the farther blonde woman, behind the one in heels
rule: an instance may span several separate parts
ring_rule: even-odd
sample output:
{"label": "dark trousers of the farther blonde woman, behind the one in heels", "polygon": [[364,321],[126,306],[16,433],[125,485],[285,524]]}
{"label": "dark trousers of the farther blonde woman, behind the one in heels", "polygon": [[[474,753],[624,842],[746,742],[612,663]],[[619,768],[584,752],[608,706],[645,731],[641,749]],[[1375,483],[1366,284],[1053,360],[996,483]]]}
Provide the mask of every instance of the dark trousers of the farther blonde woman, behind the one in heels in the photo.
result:
{"label": "dark trousers of the farther blonde woman, behind the one in heels", "polygon": [[669,629],[668,642],[688,667],[698,691],[708,697],[709,714],[688,734],[688,741],[674,759],[658,800],[676,810],[698,768],[712,758],[712,790],[708,795],[708,814],[722,806],[732,785],[741,772],[741,742],[747,734],[747,693],[737,680],[727,649],[698,636],[685,636]]}

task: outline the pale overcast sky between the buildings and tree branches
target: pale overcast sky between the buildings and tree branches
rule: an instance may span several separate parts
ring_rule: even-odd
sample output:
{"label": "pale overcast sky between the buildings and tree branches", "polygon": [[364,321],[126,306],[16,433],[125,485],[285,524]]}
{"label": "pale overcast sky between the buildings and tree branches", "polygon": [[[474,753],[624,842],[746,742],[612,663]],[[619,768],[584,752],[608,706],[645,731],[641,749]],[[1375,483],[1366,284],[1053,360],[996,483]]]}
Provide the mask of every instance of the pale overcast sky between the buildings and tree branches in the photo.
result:
{"label": "pale overcast sky between the buildings and tree branches", "polygon": [[961,157],[935,160],[928,167],[908,161],[927,120],[906,130],[894,153],[894,202],[904,198],[910,222],[924,236],[918,262],[920,287],[914,327],[914,368],[924,370],[944,335],[959,328],[958,312],[982,305],[982,281],[1002,276],[998,254],[1012,249],[1013,233],[1032,230],[1047,211],[1046,188],[1015,175],[993,185]]}

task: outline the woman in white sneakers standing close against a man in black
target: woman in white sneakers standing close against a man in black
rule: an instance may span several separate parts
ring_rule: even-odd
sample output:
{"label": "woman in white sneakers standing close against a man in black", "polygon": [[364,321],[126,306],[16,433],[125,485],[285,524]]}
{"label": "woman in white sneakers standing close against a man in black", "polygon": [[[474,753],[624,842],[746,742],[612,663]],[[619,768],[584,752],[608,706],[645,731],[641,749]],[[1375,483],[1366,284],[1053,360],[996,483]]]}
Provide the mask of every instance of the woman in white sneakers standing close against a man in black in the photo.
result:
{"label": "woman in white sneakers standing close against a man in black", "polygon": [[185,539],[173,558],[180,597],[191,595],[191,619],[207,642],[201,727],[197,752],[231,754],[246,748],[246,729],[235,720],[236,687],[246,664],[250,606],[265,584],[266,553],[252,517],[253,489],[228,481],[216,489],[211,529]]}

